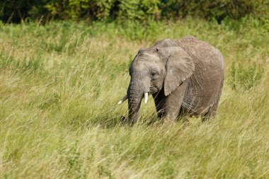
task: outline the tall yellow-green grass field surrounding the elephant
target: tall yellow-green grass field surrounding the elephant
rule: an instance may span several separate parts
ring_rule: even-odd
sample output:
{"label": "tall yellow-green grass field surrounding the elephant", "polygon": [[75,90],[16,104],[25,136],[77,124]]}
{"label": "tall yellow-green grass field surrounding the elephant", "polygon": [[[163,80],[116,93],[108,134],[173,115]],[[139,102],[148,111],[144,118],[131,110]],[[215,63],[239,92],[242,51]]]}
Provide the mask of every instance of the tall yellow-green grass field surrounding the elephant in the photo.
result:
{"label": "tall yellow-green grass field surrounding the elephant", "polygon": [[[268,25],[0,23],[0,178],[269,178]],[[120,125],[141,47],[193,35],[224,54],[217,117]]]}

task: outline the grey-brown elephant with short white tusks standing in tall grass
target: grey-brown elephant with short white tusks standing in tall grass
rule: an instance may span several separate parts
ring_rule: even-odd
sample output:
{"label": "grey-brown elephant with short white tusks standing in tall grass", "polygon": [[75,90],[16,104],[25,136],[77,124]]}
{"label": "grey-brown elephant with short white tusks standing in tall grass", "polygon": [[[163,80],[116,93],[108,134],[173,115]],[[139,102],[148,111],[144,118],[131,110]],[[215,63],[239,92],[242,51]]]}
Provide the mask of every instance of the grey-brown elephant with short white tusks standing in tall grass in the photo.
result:
{"label": "grey-brown elephant with short white tusks standing in tall grass", "polygon": [[128,122],[139,117],[142,98],[154,98],[158,117],[214,117],[224,82],[224,59],[217,48],[195,37],[165,39],[140,49],[130,65]]}

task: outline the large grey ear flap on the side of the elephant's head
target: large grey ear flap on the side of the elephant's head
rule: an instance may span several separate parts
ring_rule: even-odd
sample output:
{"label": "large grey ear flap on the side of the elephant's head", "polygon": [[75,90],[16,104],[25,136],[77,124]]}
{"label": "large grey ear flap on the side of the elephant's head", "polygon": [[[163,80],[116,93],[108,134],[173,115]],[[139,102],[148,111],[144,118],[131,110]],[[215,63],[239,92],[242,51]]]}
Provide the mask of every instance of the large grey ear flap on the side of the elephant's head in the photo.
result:
{"label": "large grey ear flap on the side of the elephant's head", "polygon": [[162,47],[156,51],[166,63],[164,94],[168,96],[193,74],[195,64],[193,58],[181,47]]}

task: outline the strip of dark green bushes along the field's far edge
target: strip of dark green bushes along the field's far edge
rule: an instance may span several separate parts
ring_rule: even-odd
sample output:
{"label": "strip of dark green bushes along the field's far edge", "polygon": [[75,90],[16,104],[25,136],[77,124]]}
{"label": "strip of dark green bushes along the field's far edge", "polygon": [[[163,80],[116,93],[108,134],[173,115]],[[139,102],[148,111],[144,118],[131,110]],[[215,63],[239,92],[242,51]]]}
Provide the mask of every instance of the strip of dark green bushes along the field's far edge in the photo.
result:
{"label": "strip of dark green bushes along the field's far edge", "polygon": [[269,3],[247,0],[18,0],[4,1],[0,5],[0,20],[20,22],[28,18],[44,16],[61,20],[115,20],[130,19],[147,21],[166,18],[184,18],[195,16],[207,20],[224,18],[239,19],[253,15],[261,19],[268,18]]}

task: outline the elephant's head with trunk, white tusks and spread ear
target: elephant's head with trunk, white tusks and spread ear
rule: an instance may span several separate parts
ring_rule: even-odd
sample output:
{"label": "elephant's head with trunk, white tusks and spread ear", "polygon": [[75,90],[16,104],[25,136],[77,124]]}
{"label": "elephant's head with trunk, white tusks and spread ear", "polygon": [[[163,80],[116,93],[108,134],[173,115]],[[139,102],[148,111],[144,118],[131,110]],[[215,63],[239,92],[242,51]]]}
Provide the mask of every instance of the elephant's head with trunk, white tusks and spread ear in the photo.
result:
{"label": "elephant's head with trunk, white tusks and spread ear", "polygon": [[181,47],[140,49],[129,68],[131,79],[127,95],[118,103],[128,99],[128,121],[137,121],[143,97],[147,103],[148,95],[161,88],[168,96],[193,74],[194,69],[193,59]]}

